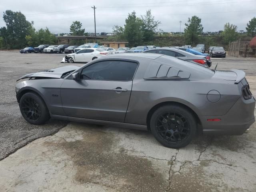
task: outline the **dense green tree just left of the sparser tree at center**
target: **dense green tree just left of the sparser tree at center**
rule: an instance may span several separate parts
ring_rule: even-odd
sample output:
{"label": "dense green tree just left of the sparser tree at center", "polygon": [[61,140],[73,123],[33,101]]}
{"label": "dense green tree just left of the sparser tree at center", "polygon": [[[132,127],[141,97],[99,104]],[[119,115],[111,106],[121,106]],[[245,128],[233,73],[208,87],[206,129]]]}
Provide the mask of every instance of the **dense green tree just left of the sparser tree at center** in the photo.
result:
{"label": "dense green tree just left of the sparser tree at center", "polygon": [[124,37],[128,40],[129,46],[138,46],[142,44],[142,26],[143,21],[136,16],[135,11],[128,14],[128,18],[125,19]]}

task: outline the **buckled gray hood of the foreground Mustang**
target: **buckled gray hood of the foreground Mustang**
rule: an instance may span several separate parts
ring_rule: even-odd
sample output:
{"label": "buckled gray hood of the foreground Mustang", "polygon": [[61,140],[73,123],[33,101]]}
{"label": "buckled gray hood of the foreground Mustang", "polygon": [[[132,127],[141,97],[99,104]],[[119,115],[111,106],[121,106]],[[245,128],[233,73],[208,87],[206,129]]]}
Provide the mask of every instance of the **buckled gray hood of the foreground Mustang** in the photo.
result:
{"label": "buckled gray hood of the foreground Mustang", "polygon": [[53,69],[48,69],[48,70],[44,70],[36,73],[26,74],[20,77],[18,80],[29,78],[29,77],[61,78],[64,73],[72,72],[74,70],[77,70],[78,68],[79,67],[73,66],[73,65],[53,68]]}

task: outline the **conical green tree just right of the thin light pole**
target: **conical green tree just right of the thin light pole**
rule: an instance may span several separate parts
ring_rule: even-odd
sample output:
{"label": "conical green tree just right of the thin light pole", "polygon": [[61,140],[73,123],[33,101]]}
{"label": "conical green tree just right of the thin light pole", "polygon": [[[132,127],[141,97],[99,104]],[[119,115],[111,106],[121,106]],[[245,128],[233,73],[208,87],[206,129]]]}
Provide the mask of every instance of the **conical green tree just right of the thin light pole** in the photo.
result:
{"label": "conical green tree just right of the thin light pole", "polygon": [[188,44],[194,44],[198,41],[198,35],[202,34],[203,26],[201,19],[198,16],[188,18],[188,23],[185,23],[184,35]]}

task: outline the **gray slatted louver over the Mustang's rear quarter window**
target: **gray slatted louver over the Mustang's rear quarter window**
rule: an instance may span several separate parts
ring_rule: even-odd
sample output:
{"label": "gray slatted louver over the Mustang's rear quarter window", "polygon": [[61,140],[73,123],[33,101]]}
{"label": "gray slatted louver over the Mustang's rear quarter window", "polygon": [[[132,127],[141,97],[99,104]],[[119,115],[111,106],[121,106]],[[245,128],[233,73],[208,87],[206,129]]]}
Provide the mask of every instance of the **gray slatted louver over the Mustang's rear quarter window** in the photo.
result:
{"label": "gray slatted louver over the Mustang's rear quarter window", "polygon": [[144,79],[188,79],[190,73],[164,64],[151,64]]}

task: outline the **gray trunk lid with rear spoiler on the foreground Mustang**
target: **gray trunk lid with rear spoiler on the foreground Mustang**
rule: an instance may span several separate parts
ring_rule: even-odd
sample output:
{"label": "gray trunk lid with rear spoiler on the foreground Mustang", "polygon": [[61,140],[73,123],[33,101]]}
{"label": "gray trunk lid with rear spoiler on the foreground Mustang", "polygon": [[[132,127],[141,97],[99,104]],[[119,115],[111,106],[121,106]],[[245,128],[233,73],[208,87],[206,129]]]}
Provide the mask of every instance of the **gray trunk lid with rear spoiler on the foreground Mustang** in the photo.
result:
{"label": "gray trunk lid with rear spoiler on the foreground Mustang", "polygon": [[242,70],[216,70],[212,79],[229,80],[234,83],[239,83],[245,77],[245,72]]}

